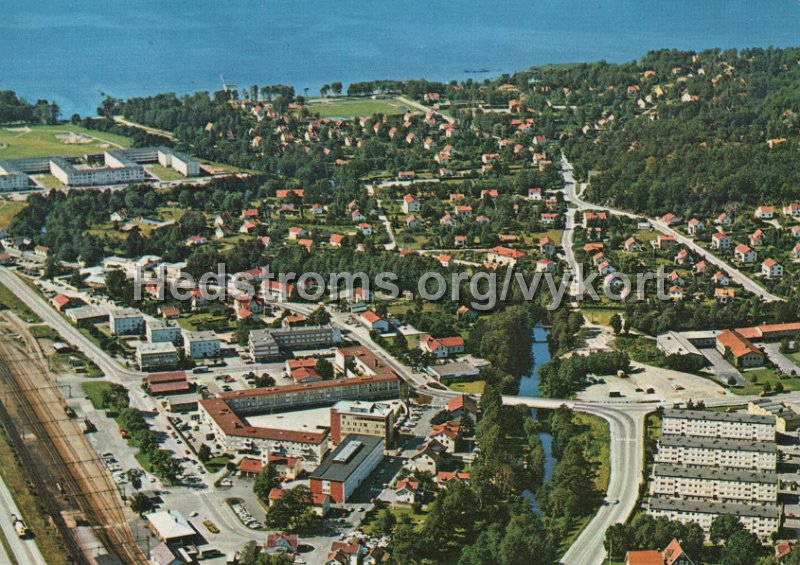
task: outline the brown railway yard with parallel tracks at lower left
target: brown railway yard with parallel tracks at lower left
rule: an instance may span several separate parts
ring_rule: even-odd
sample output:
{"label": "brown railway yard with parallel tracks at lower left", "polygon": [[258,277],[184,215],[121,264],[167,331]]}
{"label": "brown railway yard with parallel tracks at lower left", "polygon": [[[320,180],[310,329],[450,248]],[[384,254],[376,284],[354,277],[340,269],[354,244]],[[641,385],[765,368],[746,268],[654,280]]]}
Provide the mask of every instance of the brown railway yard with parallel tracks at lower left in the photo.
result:
{"label": "brown railway yard with parallel tracks at lower left", "polygon": [[97,548],[79,544],[62,516],[64,510],[79,510],[108,553],[120,562],[145,563],[117,486],[77,422],[67,416],[66,402],[51,380],[38,342],[13,317],[4,316],[4,321],[19,337],[0,331],[0,424],[30,470],[34,488],[71,558],[88,563],[85,551]]}

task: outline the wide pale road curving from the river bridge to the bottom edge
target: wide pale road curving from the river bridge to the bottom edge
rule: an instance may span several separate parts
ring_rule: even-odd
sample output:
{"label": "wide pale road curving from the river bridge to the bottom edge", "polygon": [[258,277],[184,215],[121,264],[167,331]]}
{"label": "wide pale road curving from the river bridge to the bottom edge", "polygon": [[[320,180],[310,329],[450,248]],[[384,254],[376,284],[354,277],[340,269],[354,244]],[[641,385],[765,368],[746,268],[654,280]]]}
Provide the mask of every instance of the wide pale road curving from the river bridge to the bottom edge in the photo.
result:
{"label": "wide pale road curving from the river bridge to the bottom edge", "polygon": [[627,521],[639,497],[644,480],[644,417],[658,404],[588,404],[546,398],[504,396],[503,403],[531,408],[558,408],[566,405],[577,412],[599,416],[608,422],[611,438],[611,474],[603,504],[570,546],[562,563],[601,565],[605,559],[603,541],[612,524]]}

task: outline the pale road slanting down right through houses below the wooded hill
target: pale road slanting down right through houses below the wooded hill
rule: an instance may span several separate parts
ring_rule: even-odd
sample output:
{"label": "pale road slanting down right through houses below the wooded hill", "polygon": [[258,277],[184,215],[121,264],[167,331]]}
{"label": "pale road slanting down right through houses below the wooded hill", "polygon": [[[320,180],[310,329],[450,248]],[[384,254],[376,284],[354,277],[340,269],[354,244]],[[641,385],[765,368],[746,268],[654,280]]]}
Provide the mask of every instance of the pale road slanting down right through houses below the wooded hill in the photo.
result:
{"label": "pale road slanting down right through houses below the wooded hill", "polygon": [[[697,255],[700,255],[703,259],[705,259],[706,262],[715,265],[720,270],[727,273],[727,275],[732,280],[739,283],[745,290],[755,294],[756,296],[761,297],[763,300],[767,302],[775,302],[778,300],[783,300],[783,298],[775,294],[772,294],[771,292],[769,292],[764,287],[753,281],[753,279],[745,275],[742,271],[740,271],[727,261],[720,259],[716,255],[711,253],[709,250],[700,247],[691,238],[686,237],[685,235],[675,231],[674,229],[670,228],[660,220],[647,218],[645,216],[633,214],[631,212],[626,212],[624,210],[619,210],[616,208],[609,208],[608,206],[600,206],[598,204],[592,204],[591,202],[583,200],[580,196],[578,196],[578,194],[575,191],[575,186],[577,183],[575,182],[575,177],[573,176],[573,168],[570,162],[567,160],[566,156],[564,155],[561,156],[561,174],[564,177],[564,198],[567,202],[577,206],[578,209],[580,210],[602,209],[606,210],[609,214],[613,214],[615,216],[625,216],[627,218],[631,218],[634,220],[647,220],[650,222],[650,225],[652,225],[655,229],[657,229],[664,235],[671,235],[675,237],[675,240],[678,243],[687,247]],[[574,225],[574,217],[573,217],[573,225]],[[571,240],[571,234],[570,234],[570,240]]]}

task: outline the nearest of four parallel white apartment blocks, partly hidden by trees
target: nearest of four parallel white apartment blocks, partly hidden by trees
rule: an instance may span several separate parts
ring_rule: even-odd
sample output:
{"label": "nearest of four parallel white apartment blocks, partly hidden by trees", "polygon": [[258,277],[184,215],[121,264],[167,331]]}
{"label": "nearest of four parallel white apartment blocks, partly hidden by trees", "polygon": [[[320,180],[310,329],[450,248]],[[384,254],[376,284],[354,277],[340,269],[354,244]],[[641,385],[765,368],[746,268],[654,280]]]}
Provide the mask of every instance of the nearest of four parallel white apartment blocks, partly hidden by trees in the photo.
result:
{"label": "nearest of four parallel white apartment blocks, partly hidden by trees", "polygon": [[729,514],[739,518],[745,529],[757,535],[762,543],[771,541],[770,536],[780,526],[780,508],[777,504],[726,504],[651,497],[647,501],[647,513],[655,518],[664,517],[683,524],[695,522],[706,535],[714,518]]}

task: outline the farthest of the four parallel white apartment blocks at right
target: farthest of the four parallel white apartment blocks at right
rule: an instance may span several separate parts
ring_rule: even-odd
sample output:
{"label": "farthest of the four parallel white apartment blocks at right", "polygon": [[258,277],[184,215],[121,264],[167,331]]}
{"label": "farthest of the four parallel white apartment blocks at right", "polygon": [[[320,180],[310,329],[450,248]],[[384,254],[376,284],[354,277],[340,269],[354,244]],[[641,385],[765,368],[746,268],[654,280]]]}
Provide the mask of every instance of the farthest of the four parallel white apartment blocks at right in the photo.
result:
{"label": "farthest of the four parallel white apartment blocks at right", "polygon": [[664,434],[708,438],[775,441],[775,418],[739,412],[664,410]]}

